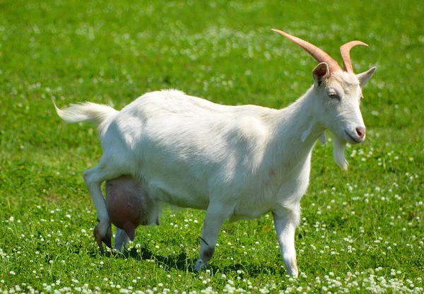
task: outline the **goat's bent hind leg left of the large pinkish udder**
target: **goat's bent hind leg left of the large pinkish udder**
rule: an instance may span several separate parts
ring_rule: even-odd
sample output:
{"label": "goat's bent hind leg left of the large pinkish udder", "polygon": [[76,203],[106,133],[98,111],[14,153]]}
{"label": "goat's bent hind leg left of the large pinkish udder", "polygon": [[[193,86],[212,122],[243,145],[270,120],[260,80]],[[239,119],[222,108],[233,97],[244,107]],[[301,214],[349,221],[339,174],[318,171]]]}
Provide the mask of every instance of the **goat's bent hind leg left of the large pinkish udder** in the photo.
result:
{"label": "goat's bent hind leg left of the large pinkish udder", "polygon": [[102,157],[99,165],[86,170],[83,173],[84,180],[86,181],[88,192],[95,206],[98,216],[98,225],[94,228],[94,237],[99,245],[100,250],[103,250],[102,242],[107,247],[112,248],[112,228],[110,218],[107,214],[105,197],[103,196],[101,185],[106,180],[111,180],[119,177],[121,173],[116,167],[108,167],[105,163],[105,157]]}

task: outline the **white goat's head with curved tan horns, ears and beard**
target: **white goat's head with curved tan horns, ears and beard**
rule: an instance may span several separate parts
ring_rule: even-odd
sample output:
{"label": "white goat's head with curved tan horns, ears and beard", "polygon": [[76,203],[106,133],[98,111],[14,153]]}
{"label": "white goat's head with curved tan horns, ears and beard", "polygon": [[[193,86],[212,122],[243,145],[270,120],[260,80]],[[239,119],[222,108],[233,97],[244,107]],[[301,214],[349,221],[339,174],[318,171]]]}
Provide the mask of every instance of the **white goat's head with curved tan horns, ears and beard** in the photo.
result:
{"label": "white goat's head with curved tan horns, ears and beard", "polygon": [[305,49],[319,62],[312,71],[313,90],[317,94],[314,103],[317,107],[314,111],[317,112],[319,124],[329,129],[335,136],[334,160],[343,170],[347,170],[348,163],[344,158],[346,142],[357,144],[365,140],[365,124],[359,108],[360,100],[363,98],[361,87],[377,69],[372,67],[364,73],[353,73],[349,52],[356,45],[367,45],[360,41],[352,41],[341,46],[343,71],[337,61],[322,49],[281,30],[273,29],[273,31]]}

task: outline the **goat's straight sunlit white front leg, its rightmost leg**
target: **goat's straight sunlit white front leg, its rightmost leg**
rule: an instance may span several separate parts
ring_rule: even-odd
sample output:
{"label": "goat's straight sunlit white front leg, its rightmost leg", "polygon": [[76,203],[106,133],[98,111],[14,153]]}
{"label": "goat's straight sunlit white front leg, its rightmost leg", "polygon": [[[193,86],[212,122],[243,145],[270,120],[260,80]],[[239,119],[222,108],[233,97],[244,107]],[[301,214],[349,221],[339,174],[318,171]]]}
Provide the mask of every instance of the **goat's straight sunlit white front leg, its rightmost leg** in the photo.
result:
{"label": "goat's straight sunlit white front leg, its rightmost leg", "polygon": [[278,211],[273,211],[272,216],[285,270],[289,275],[297,278],[299,271],[298,265],[296,264],[295,230],[299,222],[300,211],[292,211],[283,208]]}

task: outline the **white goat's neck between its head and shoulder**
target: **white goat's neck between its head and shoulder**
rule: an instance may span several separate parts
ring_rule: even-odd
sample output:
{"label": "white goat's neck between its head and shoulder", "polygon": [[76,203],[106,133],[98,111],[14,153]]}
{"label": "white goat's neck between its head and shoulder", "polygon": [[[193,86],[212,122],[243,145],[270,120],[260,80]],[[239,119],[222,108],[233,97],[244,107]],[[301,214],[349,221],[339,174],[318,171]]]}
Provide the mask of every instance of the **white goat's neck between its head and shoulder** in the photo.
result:
{"label": "white goat's neck between its head and shoulder", "polygon": [[274,134],[275,158],[285,167],[302,164],[312,151],[315,141],[324,131],[314,116],[314,90],[305,93],[292,105],[278,111]]}

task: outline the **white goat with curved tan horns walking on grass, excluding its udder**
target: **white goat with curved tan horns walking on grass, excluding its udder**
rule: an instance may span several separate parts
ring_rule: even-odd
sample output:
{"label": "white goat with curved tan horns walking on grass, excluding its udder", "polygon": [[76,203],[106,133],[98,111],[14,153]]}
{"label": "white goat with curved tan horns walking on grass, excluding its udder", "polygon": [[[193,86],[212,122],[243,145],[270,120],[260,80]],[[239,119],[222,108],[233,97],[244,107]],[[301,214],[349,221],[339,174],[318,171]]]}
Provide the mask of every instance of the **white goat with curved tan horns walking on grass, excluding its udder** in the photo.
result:
{"label": "white goat with curved tan horns walking on grass, excluding its udder", "polygon": [[[59,110],[66,122],[95,121],[103,155],[83,173],[98,213],[95,237],[110,245],[110,217],[100,185],[121,175],[146,183],[155,203],[206,209],[200,256],[206,266],[223,222],[272,212],[285,269],[298,276],[295,228],[310,177],[311,151],[325,129],[334,134],[334,159],[347,169],[346,142],[361,143],[361,86],[375,72],[355,75],[341,47],[345,71],[314,45],[274,30],[309,52],[319,64],[314,85],[292,105],[273,110],[224,106],[177,90],[146,93],[121,111],[86,102]],[[119,231],[121,234],[122,231]]]}

